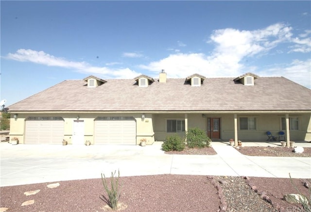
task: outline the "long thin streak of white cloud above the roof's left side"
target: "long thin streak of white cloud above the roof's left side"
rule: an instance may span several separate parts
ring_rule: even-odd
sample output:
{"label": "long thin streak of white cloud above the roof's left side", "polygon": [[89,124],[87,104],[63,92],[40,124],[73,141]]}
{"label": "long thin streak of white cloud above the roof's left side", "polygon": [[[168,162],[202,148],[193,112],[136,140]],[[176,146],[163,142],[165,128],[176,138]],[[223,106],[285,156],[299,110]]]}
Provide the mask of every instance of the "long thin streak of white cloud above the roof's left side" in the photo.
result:
{"label": "long thin streak of white cloud above the roof's left side", "polygon": [[104,78],[134,78],[140,74],[129,68],[112,69],[108,67],[92,66],[86,62],[68,61],[45,53],[44,51],[35,51],[32,49],[18,49],[16,53],[9,53],[6,58],[20,62],[32,62],[41,65],[70,68],[81,73],[99,74]]}

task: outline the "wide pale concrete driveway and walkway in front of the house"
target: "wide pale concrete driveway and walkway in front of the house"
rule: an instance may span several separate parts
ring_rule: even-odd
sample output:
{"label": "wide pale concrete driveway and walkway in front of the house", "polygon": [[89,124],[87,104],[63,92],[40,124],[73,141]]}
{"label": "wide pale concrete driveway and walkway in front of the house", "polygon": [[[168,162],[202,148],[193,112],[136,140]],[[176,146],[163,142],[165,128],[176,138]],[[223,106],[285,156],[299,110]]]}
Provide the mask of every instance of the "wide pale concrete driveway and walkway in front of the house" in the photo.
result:
{"label": "wide pale concrete driveway and walkway in front of the house", "polygon": [[[248,146],[246,142],[243,145]],[[304,145],[311,147],[311,143]],[[291,173],[293,178],[311,179],[311,158],[245,156],[222,142],[213,142],[212,147],[217,155],[164,154],[160,142],[146,147],[1,142],[0,186],[100,178],[101,173],[110,176],[118,169],[121,177],[182,174],[289,178]]]}

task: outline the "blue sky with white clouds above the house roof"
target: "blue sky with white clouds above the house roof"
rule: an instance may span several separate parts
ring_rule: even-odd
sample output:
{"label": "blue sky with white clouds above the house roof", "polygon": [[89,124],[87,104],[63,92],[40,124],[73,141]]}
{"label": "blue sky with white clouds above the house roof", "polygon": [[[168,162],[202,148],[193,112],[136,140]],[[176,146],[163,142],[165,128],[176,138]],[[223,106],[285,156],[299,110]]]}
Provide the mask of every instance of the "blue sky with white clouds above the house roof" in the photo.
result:
{"label": "blue sky with white clouds above the house roof", "polygon": [[0,1],[1,99],[64,80],[283,76],[311,88],[311,1]]}

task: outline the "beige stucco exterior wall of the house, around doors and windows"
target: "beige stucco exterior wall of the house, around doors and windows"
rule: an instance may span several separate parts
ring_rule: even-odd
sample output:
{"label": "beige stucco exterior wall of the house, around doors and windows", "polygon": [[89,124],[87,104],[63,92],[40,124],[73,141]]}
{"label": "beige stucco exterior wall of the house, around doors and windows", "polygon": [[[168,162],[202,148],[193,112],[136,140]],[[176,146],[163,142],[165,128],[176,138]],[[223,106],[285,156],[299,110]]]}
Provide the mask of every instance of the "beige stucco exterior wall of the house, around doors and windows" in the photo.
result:
{"label": "beige stucco exterior wall of the house, around doors and windows", "polygon": [[[145,118],[142,120],[141,115]],[[17,120],[13,118],[14,113],[10,118],[10,138],[18,137],[19,143],[24,143],[25,135],[25,120],[28,116],[62,116],[64,118],[64,139],[69,144],[72,143],[73,121],[84,120],[85,141],[89,140],[94,143],[94,120],[97,116],[121,116],[121,114],[106,114],[106,113],[41,113],[41,114],[17,114]],[[137,124],[136,144],[139,145],[141,139],[146,139],[147,144],[153,144],[154,141],[164,141],[166,136],[174,133],[166,132],[167,119],[181,119],[187,117],[188,128],[198,127],[207,130],[207,118],[219,117],[221,120],[221,140],[229,140],[234,138],[234,114],[152,114],[152,113],[127,113],[122,114],[133,116]],[[307,140],[311,141],[311,114],[289,114],[290,117],[299,118],[299,130],[290,131],[290,140]],[[266,131],[271,131],[277,136],[277,132],[281,130],[281,118],[285,114],[238,114],[238,128],[240,126],[240,117],[256,117],[257,130],[240,130],[238,129],[239,140],[266,140]],[[184,137],[184,132],[178,133]]]}

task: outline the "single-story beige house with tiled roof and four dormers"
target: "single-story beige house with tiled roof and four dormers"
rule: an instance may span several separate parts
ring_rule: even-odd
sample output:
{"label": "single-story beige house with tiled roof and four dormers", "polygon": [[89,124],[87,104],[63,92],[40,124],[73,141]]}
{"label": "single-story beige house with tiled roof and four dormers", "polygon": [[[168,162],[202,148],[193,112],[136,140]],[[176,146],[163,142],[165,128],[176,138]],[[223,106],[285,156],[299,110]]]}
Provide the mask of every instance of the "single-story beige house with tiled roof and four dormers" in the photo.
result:
{"label": "single-story beige house with tiled roof and four dormers", "polygon": [[170,79],[140,75],[66,80],[8,107],[10,137],[22,144],[138,145],[164,141],[189,128],[217,140],[311,141],[311,90],[284,77],[193,74]]}

